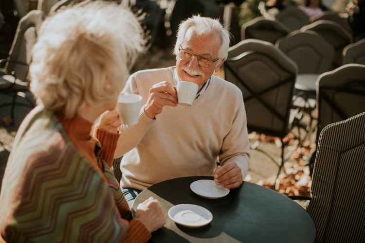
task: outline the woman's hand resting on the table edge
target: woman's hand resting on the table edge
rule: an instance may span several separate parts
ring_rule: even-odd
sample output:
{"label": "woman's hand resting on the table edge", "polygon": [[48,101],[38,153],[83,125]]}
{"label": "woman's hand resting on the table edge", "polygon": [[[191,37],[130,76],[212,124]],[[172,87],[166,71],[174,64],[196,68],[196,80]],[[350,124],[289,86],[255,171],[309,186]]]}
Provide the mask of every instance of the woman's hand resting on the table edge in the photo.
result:
{"label": "woman's hand resting on the table edge", "polygon": [[164,211],[159,201],[153,197],[148,198],[137,206],[135,219],[141,221],[151,233],[166,223]]}

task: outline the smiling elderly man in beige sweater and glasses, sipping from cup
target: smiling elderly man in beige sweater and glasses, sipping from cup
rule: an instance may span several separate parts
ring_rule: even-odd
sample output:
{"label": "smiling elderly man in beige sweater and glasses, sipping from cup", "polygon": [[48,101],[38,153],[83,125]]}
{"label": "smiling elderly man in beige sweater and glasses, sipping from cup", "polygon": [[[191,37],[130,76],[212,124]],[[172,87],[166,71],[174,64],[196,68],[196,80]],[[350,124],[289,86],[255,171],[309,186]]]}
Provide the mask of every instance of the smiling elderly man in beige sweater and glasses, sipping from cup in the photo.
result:
{"label": "smiling elderly man in beige sweater and glasses, sipping from cup", "polygon": [[[145,104],[137,124],[121,126],[114,154],[124,155],[121,185],[129,201],[146,187],[182,176],[214,175],[217,184],[237,188],[248,171],[242,93],[212,75],[227,57],[229,33],[219,21],[195,16],[180,25],[177,37],[176,67],[138,71],[123,90],[140,94]],[[189,108],[178,106],[174,86],[180,80],[199,86]]]}

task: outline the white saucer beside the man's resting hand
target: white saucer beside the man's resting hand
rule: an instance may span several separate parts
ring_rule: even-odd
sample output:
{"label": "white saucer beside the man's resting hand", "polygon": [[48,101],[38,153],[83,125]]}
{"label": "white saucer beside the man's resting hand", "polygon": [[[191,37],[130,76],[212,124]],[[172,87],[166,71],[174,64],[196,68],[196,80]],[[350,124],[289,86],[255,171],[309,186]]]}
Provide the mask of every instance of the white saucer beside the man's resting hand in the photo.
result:
{"label": "white saucer beside the man's resting hand", "polygon": [[214,180],[198,180],[190,184],[191,191],[210,199],[221,198],[229,193],[229,189],[217,186]]}

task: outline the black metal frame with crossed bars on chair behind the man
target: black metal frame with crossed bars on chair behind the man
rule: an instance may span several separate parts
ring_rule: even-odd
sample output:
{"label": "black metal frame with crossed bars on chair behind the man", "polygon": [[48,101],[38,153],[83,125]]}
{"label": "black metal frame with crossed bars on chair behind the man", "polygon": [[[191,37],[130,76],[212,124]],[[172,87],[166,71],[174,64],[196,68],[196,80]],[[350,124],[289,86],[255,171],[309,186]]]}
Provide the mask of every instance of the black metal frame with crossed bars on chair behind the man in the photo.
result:
{"label": "black metal frame with crossed bars on chair behind the man", "polygon": [[[252,88],[249,87],[249,85],[247,85],[240,77],[239,75],[237,74],[237,72],[229,65],[229,62],[232,62],[232,61],[237,61],[243,57],[247,57],[249,55],[252,55],[254,53],[258,53],[258,54],[261,54],[261,55],[264,55],[265,57],[269,58],[269,59],[272,59],[270,56],[268,55],[265,55],[264,53],[260,53],[260,52],[254,52],[254,51],[248,51],[248,52],[243,52],[241,54],[239,54],[238,56],[236,57],[232,57],[232,58],[228,58],[225,62],[224,62],[224,69],[225,69],[225,72],[227,72],[227,70],[229,70],[233,76],[237,79],[237,81],[243,86],[245,87],[250,93],[251,95],[249,95],[248,97],[244,97],[243,98],[243,101],[244,102],[247,102],[251,99],[256,99],[260,104],[264,105],[265,108],[267,108],[277,119],[279,119],[280,121],[283,121],[284,125],[283,125],[283,132],[274,132],[274,131],[270,131],[270,130],[267,130],[267,129],[262,129],[260,127],[257,127],[257,126],[250,126],[250,124],[247,124],[248,126],[248,129],[250,131],[256,131],[258,133],[263,133],[263,134],[268,134],[268,135],[271,135],[271,136],[275,136],[275,137],[279,137],[280,140],[281,140],[281,162],[279,163],[279,165],[277,164],[277,162],[275,161],[275,159],[270,156],[268,153],[266,153],[265,151],[261,150],[261,149],[258,149],[257,146],[254,147],[254,149],[256,149],[257,151],[263,153],[265,156],[269,157],[278,167],[279,167],[279,171],[277,173],[277,176],[279,176],[280,172],[281,172],[281,169],[284,169],[284,162],[287,160],[284,160],[284,149],[285,147],[288,145],[288,142],[284,142],[283,141],[283,138],[289,133],[289,115],[290,115],[290,109],[288,109],[288,111],[286,112],[286,115],[285,116],[282,116],[271,104],[268,104],[267,102],[265,102],[264,100],[261,99],[261,95],[277,88],[277,87],[281,87],[283,85],[286,85],[287,83],[291,82],[293,79],[295,80],[295,76],[294,75],[291,75],[289,78],[271,86],[271,87],[268,87],[268,88],[265,88],[264,90],[256,93],[254,90],[252,90]],[[275,61],[276,63],[276,61]],[[288,73],[290,73],[290,71],[288,71],[285,67],[283,66],[280,66],[282,69],[286,70]],[[293,82],[293,87],[292,87],[292,91],[291,91],[291,94],[289,95],[290,99],[288,100],[288,104],[292,104],[292,93],[293,93],[293,89],[294,89],[294,82]],[[290,107],[291,105],[288,105],[288,107]],[[284,169],[284,172],[285,172],[285,169]]]}

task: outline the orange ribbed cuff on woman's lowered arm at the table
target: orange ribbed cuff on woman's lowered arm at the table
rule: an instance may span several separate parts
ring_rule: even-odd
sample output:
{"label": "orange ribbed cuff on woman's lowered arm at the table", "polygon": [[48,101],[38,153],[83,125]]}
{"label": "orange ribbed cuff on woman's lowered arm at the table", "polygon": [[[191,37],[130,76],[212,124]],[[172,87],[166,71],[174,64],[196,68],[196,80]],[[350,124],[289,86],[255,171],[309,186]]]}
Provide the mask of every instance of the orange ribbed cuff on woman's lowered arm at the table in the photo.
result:
{"label": "orange ribbed cuff on woman's lowered arm at the table", "polygon": [[124,243],[146,243],[151,238],[147,227],[139,220],[129,222],[129,228]]}

